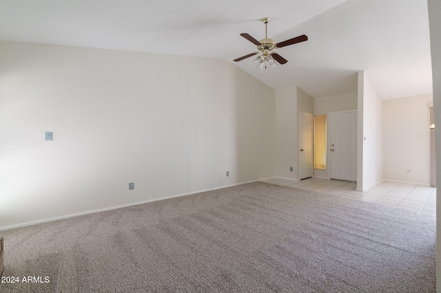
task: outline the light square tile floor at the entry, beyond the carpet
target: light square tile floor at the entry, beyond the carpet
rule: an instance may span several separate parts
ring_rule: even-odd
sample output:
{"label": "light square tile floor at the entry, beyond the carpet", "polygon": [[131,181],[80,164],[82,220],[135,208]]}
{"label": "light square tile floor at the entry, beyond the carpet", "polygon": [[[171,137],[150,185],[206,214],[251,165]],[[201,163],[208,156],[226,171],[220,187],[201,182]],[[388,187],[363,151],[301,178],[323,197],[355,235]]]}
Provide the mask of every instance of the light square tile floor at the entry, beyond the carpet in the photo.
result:
{"label": "light square tile floor at the entry, beyond the carpet", "polygon": [[356,191],[356,182],[342,180],[309,178],[294,181],[271,178],[262,181],[366,202],[387,204],[436,219],[436,188],[430,186],[384,181],[367,191]]}

